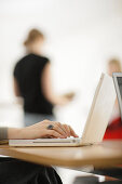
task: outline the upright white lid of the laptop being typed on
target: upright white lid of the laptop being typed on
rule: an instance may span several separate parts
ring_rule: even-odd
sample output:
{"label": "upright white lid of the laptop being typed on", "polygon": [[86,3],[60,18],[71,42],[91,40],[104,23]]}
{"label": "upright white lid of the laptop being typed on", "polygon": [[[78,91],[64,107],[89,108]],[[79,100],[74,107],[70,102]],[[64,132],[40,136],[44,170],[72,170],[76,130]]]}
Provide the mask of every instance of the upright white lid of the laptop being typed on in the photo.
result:
{"label": "upright white lid of the laptop being typed on", "polygon": [[98,143],[103,141],[113,109],[116,96],[112,78],[101,74],[84,127],[82,143]]}

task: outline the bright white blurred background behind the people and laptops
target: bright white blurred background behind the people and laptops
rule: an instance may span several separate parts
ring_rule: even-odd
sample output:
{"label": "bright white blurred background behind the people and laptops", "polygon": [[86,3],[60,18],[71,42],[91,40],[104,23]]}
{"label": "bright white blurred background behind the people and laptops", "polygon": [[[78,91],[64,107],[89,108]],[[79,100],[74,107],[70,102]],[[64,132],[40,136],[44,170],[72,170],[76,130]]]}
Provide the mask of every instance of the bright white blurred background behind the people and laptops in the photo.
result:
{"label": "bright white blurred background behind the people and laptops", "polygon": [[[23,107],[13,92],[13,69],[25,54],[23,41],[33,27],[45,35],[43,53],[52,62],[55,91],[76,92],[70,104],[55,108],[56,118],[81,135],[107,62],[112,57],[122,61],[122,1],[0,0],[0,121],[4,126],[23,124]],[[69,172],[70,180],[64,174],[67,184],[73,178],[73,171]]]}

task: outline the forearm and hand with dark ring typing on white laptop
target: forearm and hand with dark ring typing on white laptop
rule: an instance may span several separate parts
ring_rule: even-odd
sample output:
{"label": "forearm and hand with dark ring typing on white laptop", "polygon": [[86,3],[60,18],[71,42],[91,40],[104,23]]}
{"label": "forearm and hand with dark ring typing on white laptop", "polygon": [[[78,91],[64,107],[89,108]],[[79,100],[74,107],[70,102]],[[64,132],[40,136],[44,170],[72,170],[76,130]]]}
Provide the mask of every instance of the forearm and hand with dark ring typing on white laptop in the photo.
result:
{"label": "forearm and hand with dark ring typing on white laptop", "polygon": [[[48,126],[52,124],[53,130],[49,130]],[[44,120],[33,126],[26,128],[0,128],[0,141],[1,140],[15,140],[15,139],[40,139],[40,137],[60,137],[66,139],[68,136],[78,137],[72,128],[59,122]]]}

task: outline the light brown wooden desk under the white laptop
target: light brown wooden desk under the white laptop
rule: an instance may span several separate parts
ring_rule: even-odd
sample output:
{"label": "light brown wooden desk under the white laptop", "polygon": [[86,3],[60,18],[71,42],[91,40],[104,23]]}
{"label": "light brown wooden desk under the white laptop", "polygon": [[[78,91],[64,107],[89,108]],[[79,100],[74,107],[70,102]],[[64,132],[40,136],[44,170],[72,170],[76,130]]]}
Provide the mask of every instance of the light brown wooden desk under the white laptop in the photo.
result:
{"label": "light brown wooden desk under the white laptop", "polygon": [[83,147],[9,147],[0,146],[0,155],[46,166],[95,168],[122,165],[122,141],[103,142]]}

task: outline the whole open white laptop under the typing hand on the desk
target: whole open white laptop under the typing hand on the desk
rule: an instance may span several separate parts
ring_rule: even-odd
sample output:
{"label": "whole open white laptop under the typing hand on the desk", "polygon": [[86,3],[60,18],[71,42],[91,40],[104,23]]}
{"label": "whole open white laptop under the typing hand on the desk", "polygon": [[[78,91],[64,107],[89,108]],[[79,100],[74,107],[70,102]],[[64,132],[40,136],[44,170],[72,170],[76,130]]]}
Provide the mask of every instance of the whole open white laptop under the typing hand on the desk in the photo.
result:
{"label": "whole open white laptop under the typing hand on the desk", "polygon": [[10,146],[84,146],[103,141],[117,94],[113,80],[101,74],[82,137],[9,140]]}

